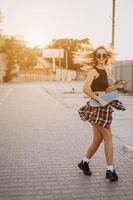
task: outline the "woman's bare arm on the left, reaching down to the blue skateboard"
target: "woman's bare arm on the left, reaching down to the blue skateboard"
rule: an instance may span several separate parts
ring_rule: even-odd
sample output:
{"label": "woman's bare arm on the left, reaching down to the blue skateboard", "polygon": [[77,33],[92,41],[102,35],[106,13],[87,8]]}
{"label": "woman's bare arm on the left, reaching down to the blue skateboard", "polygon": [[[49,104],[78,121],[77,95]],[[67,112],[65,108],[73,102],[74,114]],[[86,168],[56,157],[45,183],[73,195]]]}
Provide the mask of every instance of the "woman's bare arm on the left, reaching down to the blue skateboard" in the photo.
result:
{"label": "woman's bare arm on the left, reaching down to the blue skateboard", "polygon": [[101,104],[101,106],[106,106],[107,102],[102,100],[99,96],[95,95],[95,93],[91,90],[91,84],[92,84],[95,77],[98,77],[98,73],[95,69],[91,69],[88,72],[87,78],[85,80],[85,83],[84,83],[84,86],[83,86],[83,92],[85,94],[87,94],[89,97],[98,101]]}

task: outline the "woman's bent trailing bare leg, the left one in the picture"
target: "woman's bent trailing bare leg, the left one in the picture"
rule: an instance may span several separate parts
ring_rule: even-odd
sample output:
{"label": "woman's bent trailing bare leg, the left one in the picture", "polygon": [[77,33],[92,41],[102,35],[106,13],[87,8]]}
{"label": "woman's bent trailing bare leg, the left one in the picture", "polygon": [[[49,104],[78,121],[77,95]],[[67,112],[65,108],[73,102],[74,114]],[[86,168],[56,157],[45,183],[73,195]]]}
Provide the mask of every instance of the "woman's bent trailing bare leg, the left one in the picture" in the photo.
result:
{"label": "woman's bent trailing bare leg, the left one in the picture", "polygon": [[93,141],[89,146],[86,154],[86,157],[88,159],[91,159],[91,157],[95,154],[101,142],[102,142],[102,135],[98,129],[98,125],[95,124],[93,125]]}

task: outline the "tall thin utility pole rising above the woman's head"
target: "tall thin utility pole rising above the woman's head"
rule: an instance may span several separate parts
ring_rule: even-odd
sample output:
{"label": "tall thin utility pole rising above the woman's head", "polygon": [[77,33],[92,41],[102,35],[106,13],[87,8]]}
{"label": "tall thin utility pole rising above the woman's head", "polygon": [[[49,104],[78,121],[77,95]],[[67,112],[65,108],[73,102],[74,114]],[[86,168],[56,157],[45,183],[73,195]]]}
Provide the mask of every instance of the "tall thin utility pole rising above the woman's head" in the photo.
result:
{"label": "tall thin utility pole rising above the woman's head", "polygon": [[115,0],[112,0],[112,47],[115,46]]}

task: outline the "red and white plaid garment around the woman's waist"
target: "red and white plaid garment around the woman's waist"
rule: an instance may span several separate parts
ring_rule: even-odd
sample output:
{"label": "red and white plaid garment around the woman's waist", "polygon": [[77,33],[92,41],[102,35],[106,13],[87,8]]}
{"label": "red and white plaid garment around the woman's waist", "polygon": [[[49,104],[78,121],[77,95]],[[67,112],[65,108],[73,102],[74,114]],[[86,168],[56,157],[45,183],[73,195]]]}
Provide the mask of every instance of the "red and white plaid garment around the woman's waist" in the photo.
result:
{"label": "red and white plaid garment around the woman's waist", "polygon": [[124,105],[119,100],[114,100],[105,107],[91,107],[88,101],[86,105],[78,110],[78,113],[83,121],[88,121],[92,125],[98,124],[99,126],[109,129],[112,122],[113,108],[125,110]]}

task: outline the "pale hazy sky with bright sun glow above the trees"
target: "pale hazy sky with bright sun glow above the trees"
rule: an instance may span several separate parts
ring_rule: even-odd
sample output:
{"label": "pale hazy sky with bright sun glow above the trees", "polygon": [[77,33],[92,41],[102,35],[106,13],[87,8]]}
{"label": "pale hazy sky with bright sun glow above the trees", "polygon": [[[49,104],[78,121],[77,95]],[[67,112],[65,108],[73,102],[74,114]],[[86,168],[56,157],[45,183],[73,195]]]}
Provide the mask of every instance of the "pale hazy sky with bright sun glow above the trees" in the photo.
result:
{"label": "pale hazy sky with bright sun glow above the trees", "polygon": [[[58,38],[90,38],[108,46],[112,0],[0,0],[2,33],[46,46]],[[118,59],[133,60],[133,0],[116,0],[115,49]]]}

